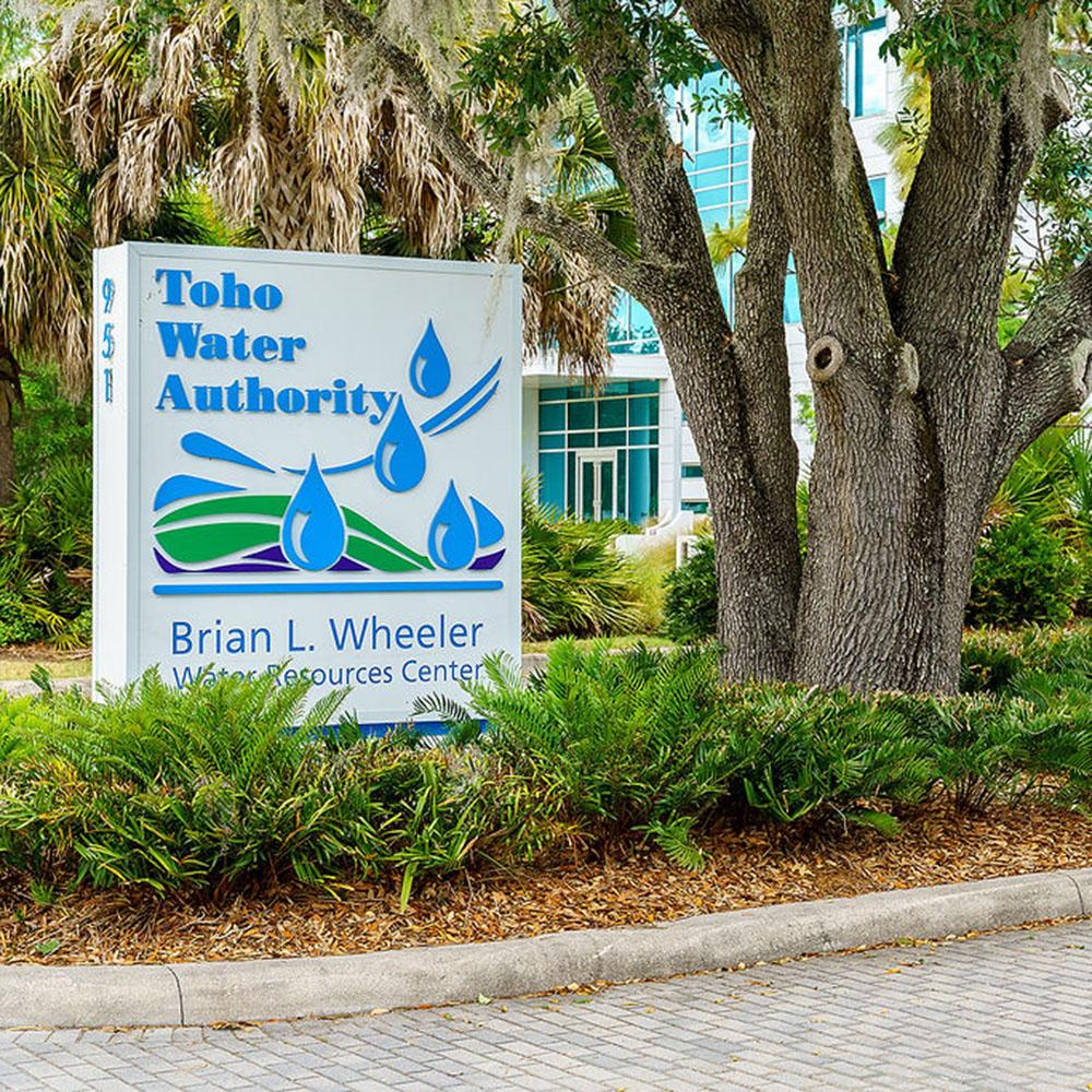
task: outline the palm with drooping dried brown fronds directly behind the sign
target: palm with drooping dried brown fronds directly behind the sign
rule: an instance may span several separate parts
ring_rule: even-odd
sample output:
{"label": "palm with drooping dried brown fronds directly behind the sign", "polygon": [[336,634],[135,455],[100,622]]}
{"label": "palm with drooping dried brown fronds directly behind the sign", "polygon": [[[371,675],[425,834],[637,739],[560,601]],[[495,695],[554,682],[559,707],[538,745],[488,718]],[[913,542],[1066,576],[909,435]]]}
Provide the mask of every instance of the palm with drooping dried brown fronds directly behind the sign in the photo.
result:
{"label": "palm with drooping dried brown fronds directly behind the sign", "polygon": [[[614,287],[547,240],[503,228],[455,179],[389,79],[351,79],[341,37],[299,27],[283,46],[234,0],[183,0],[162,26],[116,3],[54,47],[99,245],[200,177],[249,242],[281,249],[508,258],[525,270],[529,352],[595,377],[609,363]],[[96,16],[97,17],[97,16]],[[467,126],[470,123],[467,122]],[[548,185],[570,212],[636,249],[628,201],[590,96],[562,111]],[[503,252],[502,252],[503,251]]]}

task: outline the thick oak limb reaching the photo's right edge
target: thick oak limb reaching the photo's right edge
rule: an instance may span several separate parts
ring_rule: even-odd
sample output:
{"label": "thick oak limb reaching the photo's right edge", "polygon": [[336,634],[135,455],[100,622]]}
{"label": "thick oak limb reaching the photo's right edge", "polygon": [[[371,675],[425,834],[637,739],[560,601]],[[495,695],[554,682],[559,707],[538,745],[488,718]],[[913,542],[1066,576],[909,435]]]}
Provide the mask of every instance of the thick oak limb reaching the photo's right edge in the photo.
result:
{"label": "thick oak limb reaching the photo's right edge", "polygon": [[1043,296],[1002,356],[1009,399],[995,455],[998,482],[1044,428],[1092,394],[1092,258]]}

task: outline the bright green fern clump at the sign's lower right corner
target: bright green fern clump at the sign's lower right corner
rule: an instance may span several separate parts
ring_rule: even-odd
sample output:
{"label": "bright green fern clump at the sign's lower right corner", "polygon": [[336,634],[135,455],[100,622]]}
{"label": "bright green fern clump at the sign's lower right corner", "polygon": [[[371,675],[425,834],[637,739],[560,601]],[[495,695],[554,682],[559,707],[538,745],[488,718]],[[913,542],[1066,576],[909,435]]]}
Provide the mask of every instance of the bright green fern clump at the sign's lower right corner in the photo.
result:
{"label": "bright green fern clump at the sign's lower right corner", "polygon": [[710,651],[581,652],[559,641],[530,681],[497,661],[487,678],[466,687],[490,724],[485,751],[583,826],[620,833],[700,819],[736,774]]}

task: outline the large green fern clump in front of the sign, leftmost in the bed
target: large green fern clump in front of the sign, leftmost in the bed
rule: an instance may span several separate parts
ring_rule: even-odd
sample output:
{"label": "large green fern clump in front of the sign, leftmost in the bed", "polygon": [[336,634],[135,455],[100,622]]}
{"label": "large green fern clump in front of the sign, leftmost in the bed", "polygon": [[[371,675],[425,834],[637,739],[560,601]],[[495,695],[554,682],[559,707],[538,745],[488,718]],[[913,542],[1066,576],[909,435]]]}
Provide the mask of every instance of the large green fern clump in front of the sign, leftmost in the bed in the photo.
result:
{"label": "large green fern clump in front of the sign, leftmost in the bed", "polygon": [[304,716],[307,689],[268,675],[179,692],[149,674],[102,703],[73,692],[22,707],[14,729],[0,703],[0,859],[157,892],[399,873],[408,898],[417,877],[491,845],[518,856],[534,834],[526,794],[498,799],[488,775],[404,733],[320,731],[341,696]]}

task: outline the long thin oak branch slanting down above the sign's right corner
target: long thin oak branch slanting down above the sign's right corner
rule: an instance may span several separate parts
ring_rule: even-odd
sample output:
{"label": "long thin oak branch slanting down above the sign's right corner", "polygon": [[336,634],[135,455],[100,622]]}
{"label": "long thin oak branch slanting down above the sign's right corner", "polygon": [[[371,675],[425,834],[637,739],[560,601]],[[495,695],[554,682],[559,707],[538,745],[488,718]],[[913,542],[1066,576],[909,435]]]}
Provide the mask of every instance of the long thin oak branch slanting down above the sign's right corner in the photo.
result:
{"label": "long thin oak branch slanting down above the sign's right corner", "polygon": [[[387,38],[349,0],[323,0],[327,16],[349,38],[368,45],[391,71],[414,116],[431,136],[452,168],[494,207],[509,204],[509,180],[482,156],[463,136],[453,104],[431,87],[419,62]],[[515,181],[519,185],[519,180]],[[520,207],[521,226],[549,236],[561,246],[581,254],[593,265],[634,295],[658,281],[662,271],[650,262],[633,261],[600,232],[567,216],[545,202],[525,198]]]}

